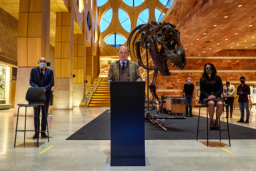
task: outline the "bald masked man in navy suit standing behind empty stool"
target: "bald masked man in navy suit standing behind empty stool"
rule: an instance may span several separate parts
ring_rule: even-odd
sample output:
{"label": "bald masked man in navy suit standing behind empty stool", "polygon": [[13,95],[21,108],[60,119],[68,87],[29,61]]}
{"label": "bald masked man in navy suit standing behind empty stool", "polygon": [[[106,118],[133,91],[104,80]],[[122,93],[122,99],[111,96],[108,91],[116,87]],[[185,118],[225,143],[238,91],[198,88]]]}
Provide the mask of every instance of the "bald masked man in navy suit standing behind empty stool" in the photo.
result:
{"label": "bald masked man in navy suit standing behind empty stool", "polygon": [[[42,119],[41,119],[41,131],[46,131],[46,119],[48,115],[49,102],[51,99],[51,88],[54,86],[54,77],[53,71],[49,68],[46,68],[46,58],[40,58],[38,61],[39,67],[33,68],[30,72],[29,84],[31,87],[44,87],[46,101],[44,107],[39,107],[38,109],[34,107],[34,126],[35,130],[40,130],[39,125],[37,125],[37,117],[40,117],[40,111],[42,110]],[[38,119],[40,123],[40,118]],[[37,129],[38,128],[38,129]],[[39,133],[35,131],[33,139],[37,139]],[[41,137],[47,138],[45,132],[41,132]]]}

